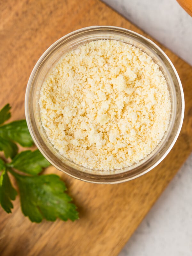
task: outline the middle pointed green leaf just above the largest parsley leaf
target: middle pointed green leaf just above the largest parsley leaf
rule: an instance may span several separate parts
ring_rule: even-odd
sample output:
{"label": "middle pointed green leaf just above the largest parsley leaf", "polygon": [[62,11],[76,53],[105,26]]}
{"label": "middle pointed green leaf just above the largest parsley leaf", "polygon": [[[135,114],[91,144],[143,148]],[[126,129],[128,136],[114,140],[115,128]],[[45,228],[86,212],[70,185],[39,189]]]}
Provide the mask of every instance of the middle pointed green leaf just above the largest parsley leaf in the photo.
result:
{"label": "middle pointed green leaf just above the largest parsley leaf", "polygon": [[18,169],[22,172],[37,175],[43,168],[48,167],[50,163],[44,158],[41,152],[26,150],[15,156],[8,166]]}

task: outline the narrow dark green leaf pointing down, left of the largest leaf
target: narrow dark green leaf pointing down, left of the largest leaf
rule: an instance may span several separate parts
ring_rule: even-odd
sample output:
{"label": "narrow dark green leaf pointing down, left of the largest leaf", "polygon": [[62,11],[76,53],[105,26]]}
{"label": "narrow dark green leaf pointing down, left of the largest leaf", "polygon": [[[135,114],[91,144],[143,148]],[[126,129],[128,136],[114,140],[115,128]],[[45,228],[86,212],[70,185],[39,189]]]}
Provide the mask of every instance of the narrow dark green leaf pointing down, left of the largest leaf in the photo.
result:
{"label": "narrow dark green leaf pointing down, left of the largest leaf", "polygon": [[0,177],[0,204],[5,212],[10,213],[13,208],[11,200],[15,200],[17,191],[12,187],[7,172],[4,170]]}

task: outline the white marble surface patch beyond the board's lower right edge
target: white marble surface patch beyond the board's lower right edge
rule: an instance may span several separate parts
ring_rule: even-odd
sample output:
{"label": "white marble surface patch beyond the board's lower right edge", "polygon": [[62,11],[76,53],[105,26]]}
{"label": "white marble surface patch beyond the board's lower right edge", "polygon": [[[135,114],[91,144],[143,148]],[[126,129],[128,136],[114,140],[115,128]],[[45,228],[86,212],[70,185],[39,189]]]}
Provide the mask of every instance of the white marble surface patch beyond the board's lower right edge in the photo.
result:
{"label": "white marble surface patch beyond the board's lower right edge", "polygon": [[119,256],[192,255],[192,154]]}

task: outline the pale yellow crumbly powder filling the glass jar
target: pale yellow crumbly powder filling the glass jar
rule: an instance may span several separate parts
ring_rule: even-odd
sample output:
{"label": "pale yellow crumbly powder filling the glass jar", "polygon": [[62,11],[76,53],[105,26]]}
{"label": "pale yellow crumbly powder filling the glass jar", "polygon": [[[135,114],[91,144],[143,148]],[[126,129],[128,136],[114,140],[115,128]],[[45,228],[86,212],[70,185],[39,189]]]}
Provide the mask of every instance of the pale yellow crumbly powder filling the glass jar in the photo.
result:
{"label": "pale yellow crumbly powder filling the glass jar", "polygon": [[96,170],[121,169],[150,154],[171,109],[158,65],[116,40],[92,41],[64,55],[46,77],[39,105],[54,148]]}

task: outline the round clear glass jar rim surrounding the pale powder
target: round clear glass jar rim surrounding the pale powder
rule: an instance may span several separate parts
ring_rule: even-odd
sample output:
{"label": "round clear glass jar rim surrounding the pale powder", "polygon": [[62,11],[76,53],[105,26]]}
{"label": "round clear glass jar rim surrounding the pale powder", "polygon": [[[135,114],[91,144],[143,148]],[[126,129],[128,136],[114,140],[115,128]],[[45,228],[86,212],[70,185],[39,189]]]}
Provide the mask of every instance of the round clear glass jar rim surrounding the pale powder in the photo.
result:
{"label": "round clear glass jar rim surrounding the pale powder", "polygon": [[[73,163],[60,155],[47,138],[41,124],[39,93],[44,78],[52,66],[66,52],[78,44],[93,40],[110,39],[132,44],[146,52],[159,66],[168,84],[171,98],[171,116],[167,131],[158,146],[144,159],[129,167],[114,171],[91,170]],[[171,60],[151,40],[131,30],[111,26],[93,26],[76,30],[52,44],[37,61],[30,77],[25,96],[25,114],[29,132],[41,153],[60,171],[93,183],[119,183],[132,180],[149,172],[169,153],[175,144],[184,117],[184,94],[180,78]]]}

